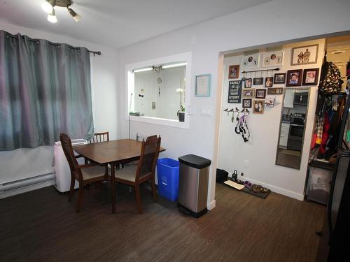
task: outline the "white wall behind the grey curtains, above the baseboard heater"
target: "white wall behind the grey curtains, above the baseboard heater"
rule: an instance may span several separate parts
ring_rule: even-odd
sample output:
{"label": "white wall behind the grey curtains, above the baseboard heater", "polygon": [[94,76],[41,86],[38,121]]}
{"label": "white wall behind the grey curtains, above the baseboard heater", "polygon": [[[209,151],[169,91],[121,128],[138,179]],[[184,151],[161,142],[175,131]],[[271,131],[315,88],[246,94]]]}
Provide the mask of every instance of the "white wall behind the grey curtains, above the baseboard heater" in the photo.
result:
{"label": "white wall behind the grey curtains, above the baseboard heater", "polygon": [[[109,131],[110,138],[117,137],[117,52],[94,43],[48,34],[43,31],[0,23],[0,29],[10,34],[25,34],[31,38],[43,38],[55,43],[83,46],[92,51],[101,51],[101,56],[92,56],[92,92],[94,130]],[[0,184],[52,172],[53,147],[19,149],[0,152]]]}

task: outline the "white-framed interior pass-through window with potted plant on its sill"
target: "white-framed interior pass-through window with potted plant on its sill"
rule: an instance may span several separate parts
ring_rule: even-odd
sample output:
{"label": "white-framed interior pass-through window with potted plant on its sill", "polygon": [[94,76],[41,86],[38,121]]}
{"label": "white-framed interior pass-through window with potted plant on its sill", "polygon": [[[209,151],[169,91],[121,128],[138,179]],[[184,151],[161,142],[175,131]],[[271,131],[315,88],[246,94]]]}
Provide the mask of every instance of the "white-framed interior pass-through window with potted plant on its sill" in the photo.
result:
{"label": "white-framed interior pass-through window with potted plant on its sill", "polygon": [[178,112],[190,106],[191,60],[192,54],[184,53],[126,67],[132,120],[188,128],[188,115],[179,122]]}

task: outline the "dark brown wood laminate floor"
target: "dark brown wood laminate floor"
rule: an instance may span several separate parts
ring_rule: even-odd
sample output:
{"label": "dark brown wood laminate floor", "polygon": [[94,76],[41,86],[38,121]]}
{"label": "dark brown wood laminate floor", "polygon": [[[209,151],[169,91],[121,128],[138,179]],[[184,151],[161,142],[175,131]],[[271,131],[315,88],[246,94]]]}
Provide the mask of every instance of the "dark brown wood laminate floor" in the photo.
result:
{"label": "dark brown wood laminate floor", "polygon": [[0,200],[0,261],[314,261],[325,207],[216,185],[216,208],[195,219],[176,203],[117,186],[85,190],[83,210],[46,187]]}

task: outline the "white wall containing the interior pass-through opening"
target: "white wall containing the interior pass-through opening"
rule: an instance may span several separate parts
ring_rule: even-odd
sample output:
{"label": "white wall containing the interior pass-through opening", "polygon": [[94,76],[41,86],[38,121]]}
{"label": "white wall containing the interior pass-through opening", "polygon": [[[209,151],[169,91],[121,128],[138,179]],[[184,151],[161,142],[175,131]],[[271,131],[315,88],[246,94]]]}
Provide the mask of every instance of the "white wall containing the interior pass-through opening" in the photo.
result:
{"label": "white wall containing the interior pass-through opening", "polygon": [[[210,97],[197,98],[192,87],[190,129],[177,129],[168,126],[132,122],[132,132],[162,135],[162,147],[167,149],[161,157],[177,158],[193,153],[214,159],[214,134],[216,117],[200,114],[203,106],[209,106],[220,112],[216,105],[216,92],[221,92],[218,82],[218,56],[225,50],[237,50],[255,45],[266,45],[350,30],[350,1],[347,0],[276,0],[241,10],[237,13],[218,17],[193,27],[164,34],[148,41],[130,45],[118,50],[118,137],[125,138],[128,124],[125,119],[127,101],[125,101],[127,82],[125,65],[146,61],[156,57],[165,57],[181,52],[193,52],[194,75],[211,73],[212,92]],[[221,77],[221,73],[219,72]],[[214,114],[215,115],[215,114]],[[216,166],[214,167],[216,168]],[[215,205],[215,175],[211,171],[209,178],[208,205]]]}

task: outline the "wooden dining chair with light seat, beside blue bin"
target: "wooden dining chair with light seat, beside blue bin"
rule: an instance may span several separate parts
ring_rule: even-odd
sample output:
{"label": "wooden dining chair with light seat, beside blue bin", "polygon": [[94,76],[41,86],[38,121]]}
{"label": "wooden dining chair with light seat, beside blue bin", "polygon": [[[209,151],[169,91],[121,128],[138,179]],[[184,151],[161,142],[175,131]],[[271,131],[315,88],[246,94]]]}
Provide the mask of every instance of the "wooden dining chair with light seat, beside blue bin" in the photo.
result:
{"label": "wooden dining chair with light seat, beside blue bin", "polygon": [[140,214],[142,214],[140,184],[150,181],[153,199],[157,201],[157,191],[155,190],[155,164],[157,163],[159,155],[160,140],[160,136],[148,136],[146,141],[142,141],[139,163],[116,170],[116,182],[127,184],[135,188],[137,209]]}

